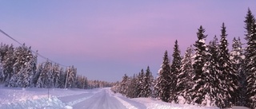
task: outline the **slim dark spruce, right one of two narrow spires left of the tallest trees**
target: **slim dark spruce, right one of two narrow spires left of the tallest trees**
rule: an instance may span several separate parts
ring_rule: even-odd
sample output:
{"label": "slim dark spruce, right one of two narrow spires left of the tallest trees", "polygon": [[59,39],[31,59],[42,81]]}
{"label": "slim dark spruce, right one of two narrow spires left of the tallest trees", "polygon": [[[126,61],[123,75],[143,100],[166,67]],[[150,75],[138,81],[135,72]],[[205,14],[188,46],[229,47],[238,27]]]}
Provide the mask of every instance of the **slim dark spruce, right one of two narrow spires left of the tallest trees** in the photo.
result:
{"label": "slim dark spruce, right one of two narrow spires left of the tallest trees", "polygon": [[178,81],[178,74],[180,72],[181,64],[182,64],[182,57],[181,52],[178,48],[178,41],[175,41],[174,45],[174,53],[173,53],[173,60],[170,65],[170,102],[177,101],[177,81]]}

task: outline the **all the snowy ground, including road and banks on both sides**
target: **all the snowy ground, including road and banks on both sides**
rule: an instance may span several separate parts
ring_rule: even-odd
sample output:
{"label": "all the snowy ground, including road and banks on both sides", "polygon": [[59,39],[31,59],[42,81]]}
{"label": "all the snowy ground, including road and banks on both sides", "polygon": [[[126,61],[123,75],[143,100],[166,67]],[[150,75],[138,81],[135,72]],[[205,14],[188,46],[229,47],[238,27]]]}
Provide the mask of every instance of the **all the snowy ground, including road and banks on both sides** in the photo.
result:
{"label": "all the snowy ground, including road and banks on both sides", "polygon": [[[0,108],[74,108],[74,109],[218,109],[164,103],[150,98],[128,99],[110,88],[93,90],[42,88],[0,88]],[[248,109],[235,107],[234,109]]]}

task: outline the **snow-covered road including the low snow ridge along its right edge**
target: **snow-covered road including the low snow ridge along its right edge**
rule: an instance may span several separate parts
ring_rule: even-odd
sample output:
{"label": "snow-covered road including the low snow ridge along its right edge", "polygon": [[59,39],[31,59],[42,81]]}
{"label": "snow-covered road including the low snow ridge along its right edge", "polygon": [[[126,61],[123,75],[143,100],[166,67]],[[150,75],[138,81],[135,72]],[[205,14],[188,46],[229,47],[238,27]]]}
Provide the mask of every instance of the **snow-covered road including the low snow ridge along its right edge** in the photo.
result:
{"label": "snow-covered road including the low snow ridge along its right edge", "polygon": [[138,109],[146,108],[142,103],[114,94],[110,88],[87,91],[79,95],[59,97],[67,106],[75,109]]}

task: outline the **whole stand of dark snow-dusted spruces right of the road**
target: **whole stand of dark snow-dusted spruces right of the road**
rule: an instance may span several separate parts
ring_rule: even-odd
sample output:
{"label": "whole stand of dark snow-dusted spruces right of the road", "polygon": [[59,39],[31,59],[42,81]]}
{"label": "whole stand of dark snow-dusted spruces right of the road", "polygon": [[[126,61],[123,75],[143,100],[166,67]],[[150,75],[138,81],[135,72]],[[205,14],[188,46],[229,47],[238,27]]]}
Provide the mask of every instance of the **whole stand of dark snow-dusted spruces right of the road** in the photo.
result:
{"label": "whole stand of dark snow-dusted spruces right of the road", "polygon": [[250,9],[244,22],[245,44],[240,37],[234,37],[229,50],[224,22],[217,33],[220,37],[215,36],[206,44],[206,29],[201,25],[196,32],[198,40],[183,56],[178,41],[171,57],[167,51],[164,53],[157,78],[147,67],[145,72],[142,69],[134,76],[123,76],[111,90],[130,98],[154,97],[168,103],[255,109],[256,22]]}

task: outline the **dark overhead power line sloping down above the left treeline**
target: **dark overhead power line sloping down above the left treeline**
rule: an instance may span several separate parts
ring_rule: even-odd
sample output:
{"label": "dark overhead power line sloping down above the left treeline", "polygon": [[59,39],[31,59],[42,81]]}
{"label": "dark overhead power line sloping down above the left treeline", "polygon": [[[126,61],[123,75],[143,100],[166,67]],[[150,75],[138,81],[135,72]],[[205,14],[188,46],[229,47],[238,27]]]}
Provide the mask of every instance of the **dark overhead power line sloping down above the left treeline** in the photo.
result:
{"label": "dark overhead power line sloping down above the left treeline", "polygon": [[[0,32],[1,32],[2,34],[6,35],[6,37],[9,37],[11,40],[17,42],[19,45],[22,45],[22,43],[20,43],[19,41],[15,40],[13,37],[10,37],[10,35],[8,35],[7,33],[5,33],[2,29],[0,29]],[[25,45],[22,45],[22,47],[24,47],[24,48],[27,49],[27,47],[26,47]],[[50,62],[52,62],[52,63],[58,64],[58,65],[60,65],[60,66],[62,66],[62,67],[66,67],[66,68],[68,67],[68,66],[66,66],[66,65],[59,64],[59,63],[55,62],[54,60],[50,60],[49,58],[46,58],[46,56],[42,56],[41,54],[39,54],[38,52],[35,52],[35,51],[32,50],[32,49],[30,49],[30,51],[31,51],[32,53],[37,54],[37,56],[42,57],[42,59],[45,59],[45,60],[48,60],[48,61],[50,61]]]}

